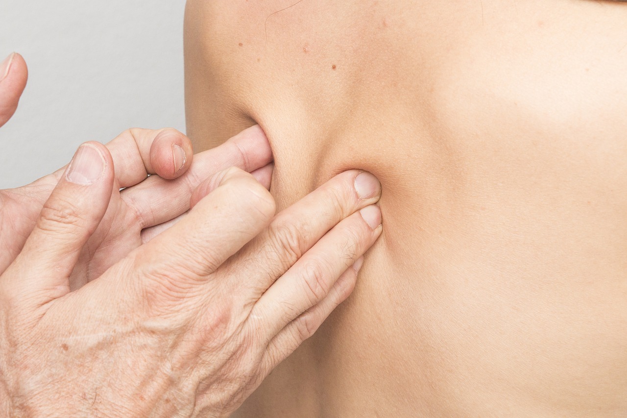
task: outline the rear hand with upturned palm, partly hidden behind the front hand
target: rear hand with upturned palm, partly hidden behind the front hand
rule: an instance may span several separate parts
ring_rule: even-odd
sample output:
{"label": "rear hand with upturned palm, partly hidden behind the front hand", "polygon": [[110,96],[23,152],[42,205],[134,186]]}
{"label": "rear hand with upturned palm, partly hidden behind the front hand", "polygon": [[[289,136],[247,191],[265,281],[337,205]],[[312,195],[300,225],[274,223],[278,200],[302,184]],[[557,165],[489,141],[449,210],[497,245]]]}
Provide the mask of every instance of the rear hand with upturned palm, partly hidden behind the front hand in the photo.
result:
{"label": "rear hand with upturned palm, partly hidden behind the front hand", "polygon": [[[0,65],[0,126],[14,114],[27,78],[26,63],[19,54]],[[93,146],[86,144],[82,153],[93,153]],[[192,156],[189,139],[174,129],[129,129],[107,148],[115,166],[114,190],[107,213],[70,276],[71,289],[100,276],[142,241],[176,222],[189,209],[194,188],[211,174],[238,166],[253,171],[266,187],[270,185],[271,166],[266,165],[272,158],[270,146],[258,127],[196,156]],[[75,164],[81,161],[75,158]],[[61,168],[28,186],[0,190],[0,271],[19,254],[64,171]],[[147,178],[148,174],[157,175]]]}

